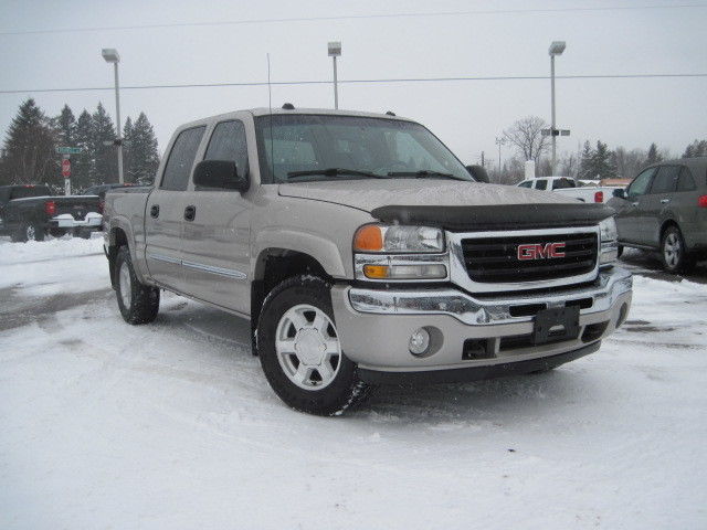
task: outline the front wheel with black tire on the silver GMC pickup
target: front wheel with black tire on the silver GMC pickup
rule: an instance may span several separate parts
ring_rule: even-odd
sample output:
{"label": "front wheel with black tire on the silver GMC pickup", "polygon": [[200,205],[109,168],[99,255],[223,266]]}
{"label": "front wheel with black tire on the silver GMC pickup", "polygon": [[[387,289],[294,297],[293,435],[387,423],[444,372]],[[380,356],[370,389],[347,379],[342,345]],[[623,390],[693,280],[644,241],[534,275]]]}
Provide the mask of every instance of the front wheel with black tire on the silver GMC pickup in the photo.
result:
{"label": "front wheel with black tire on the silver GMC pickup", "polygon": [[272,389],[292,409],[320,416],[341,414],[370,390],[341,351],[329,290],[314,276],[283,282],[265,298],[256,330]]}

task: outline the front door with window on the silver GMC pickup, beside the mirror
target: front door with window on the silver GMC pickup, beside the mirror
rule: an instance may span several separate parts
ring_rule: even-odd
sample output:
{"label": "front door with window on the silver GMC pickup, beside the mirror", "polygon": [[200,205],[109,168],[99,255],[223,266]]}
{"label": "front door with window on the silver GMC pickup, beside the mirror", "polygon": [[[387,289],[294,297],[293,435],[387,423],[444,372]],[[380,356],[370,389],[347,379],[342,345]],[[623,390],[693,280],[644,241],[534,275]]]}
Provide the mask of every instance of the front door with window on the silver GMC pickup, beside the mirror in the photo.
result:
{"label": "front door with window on the silver GMC pickup, beside the mirror", "polygon": [[[239,174],[249,173],[245,125],[240,119],[213,127],[203,160],[234,161]],[[190,187],[192,214],[184,222],[182,265],[184,293],[212,304],[250,314],[250,218],[247,192]]]}

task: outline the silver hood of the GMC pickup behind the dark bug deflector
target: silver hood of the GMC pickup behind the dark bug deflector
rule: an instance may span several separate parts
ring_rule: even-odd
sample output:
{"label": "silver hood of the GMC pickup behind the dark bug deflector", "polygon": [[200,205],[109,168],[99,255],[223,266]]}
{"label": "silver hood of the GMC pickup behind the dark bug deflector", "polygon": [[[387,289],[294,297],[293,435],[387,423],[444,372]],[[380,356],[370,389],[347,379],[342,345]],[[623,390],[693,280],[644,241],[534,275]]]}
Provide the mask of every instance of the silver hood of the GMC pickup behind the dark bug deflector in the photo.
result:
{"label": "silver hood of the GMC pickup behind the dark bug deflector", "polygon": [[279,184],[283,197],[333,202],[371,212],[381,206],[481,206],[574,204],[560,193],[514,186],[440,179],[362,179]]}

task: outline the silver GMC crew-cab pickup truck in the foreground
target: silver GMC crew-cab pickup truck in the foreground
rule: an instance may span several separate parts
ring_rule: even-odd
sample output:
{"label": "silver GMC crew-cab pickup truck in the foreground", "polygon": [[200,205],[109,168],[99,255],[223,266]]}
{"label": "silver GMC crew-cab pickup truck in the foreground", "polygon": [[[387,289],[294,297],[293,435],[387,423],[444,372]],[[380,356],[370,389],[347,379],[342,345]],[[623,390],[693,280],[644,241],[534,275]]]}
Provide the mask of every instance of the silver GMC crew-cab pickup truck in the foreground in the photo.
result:
{"label": "silver GMC crew-cab pickup truck in the foreground", "polygon": [[106,194],[124,319],[160,289],[252,322],[277,395],[338,414],[387,382],[550,370],[626,318],[613,210],[493,186],[422,125],[253,109],[173,135],[152,188]]}

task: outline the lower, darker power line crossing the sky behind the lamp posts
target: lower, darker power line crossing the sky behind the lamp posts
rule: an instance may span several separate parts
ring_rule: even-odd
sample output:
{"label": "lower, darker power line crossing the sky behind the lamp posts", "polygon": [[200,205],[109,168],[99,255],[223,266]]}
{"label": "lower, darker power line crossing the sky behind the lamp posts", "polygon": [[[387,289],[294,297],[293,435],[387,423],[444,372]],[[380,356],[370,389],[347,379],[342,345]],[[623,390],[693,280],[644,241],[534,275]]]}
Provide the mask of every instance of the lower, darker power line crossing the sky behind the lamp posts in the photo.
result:
{"label": "lower, darker power line crossing the sky behind the lamp posts", "polygon": [[[556,75],[556,80],[645,80],[645,78],[679,78],[679,77],[707,77],[707,73],[695,74],[594,74],[594,75]],[[497,75],[487,77],[401,77],[387,80],[339,80],[340,84],[392,84],[392,83],[447,83],[447,82],[469,82],[469,81],[542,81],[549,80],[548,75]],[[272,85],[294,86],[294,85],[328,85],[330,80],[310,81],[273,81]],[[184,83],[165,85],[128,85],[122,86],[120,91],[149,91],[168,88],[215,88],[234,86],[267,86],[266,81],[255,81],[247,83]],[[65,88],[22,88],[11,91],[0,91],[0,94],[28,94],[48,92],[101,92],[113,91],[113,86],[85,86]]]}

